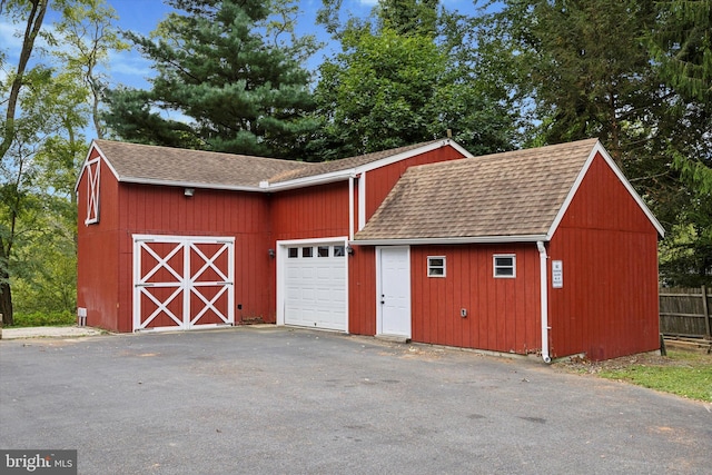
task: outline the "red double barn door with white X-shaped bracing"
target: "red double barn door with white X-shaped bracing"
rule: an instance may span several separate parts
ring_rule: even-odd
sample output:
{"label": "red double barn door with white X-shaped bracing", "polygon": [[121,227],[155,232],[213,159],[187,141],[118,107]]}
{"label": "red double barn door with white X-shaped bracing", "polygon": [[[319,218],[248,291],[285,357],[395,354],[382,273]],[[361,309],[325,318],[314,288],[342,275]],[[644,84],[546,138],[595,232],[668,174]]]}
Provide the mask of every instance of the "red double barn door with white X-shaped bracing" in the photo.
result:
{"label": "red double barn door with white X-shaped bracing", "polygon": [[134,236],[134,331],[235,323],[235,239]]}

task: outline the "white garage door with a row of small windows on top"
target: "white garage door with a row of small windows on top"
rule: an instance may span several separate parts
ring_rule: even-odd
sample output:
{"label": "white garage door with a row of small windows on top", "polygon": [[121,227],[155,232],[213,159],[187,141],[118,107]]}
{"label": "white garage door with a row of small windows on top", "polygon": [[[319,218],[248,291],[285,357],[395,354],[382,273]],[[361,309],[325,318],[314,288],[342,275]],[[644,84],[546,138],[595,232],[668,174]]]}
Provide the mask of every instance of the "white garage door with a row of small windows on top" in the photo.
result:
{"label": "white garage door with a row of small windows on top", "polygon": [[346,331],[344,243],[287,246],[285,325]]}

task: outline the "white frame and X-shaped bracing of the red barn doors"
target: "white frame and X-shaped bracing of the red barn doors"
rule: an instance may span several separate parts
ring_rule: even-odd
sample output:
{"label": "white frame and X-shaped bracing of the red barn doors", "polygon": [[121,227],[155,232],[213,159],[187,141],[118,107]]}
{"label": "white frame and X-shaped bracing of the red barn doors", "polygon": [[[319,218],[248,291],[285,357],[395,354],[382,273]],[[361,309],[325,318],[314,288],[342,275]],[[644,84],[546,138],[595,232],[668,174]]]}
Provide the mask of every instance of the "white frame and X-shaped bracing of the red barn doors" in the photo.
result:
{"label": "white frame and X-shaped bracing of the red barn doors", "polygon": [[[166,235],[134,235],[134,318],[132,329],[138,330],[175,330],[175,329],[190,329],[197,327],[212,327],[218,325],[235,325],[235,238],[234,237],[216,237],[216,236],[166,236]],[[174,244],[175,248],[166,256],[160,258],[148,246],[150,243],[165,243]],[[220,244],[222,247],[217,250],[211,257],[206,256],[195,245],[197,244]],[[141,254],[142,250],[147,250],[154,256],[157,264],[146,275],[141,275]],[[195,251],[202,259],[200,269],[192,274],[190,271],[190,251]],[[227,253],[227,273],[224,273],[215,266],[215,259],[220,255]],[[177,273],[168,265],[171,257],[182,254],[182,274]],[[215,270],[222,280],[219,281],[200,281],[198,278],[208,268]],[[149,283],[148,279],[160,269],[166,269],[176,277],[175,283]],[[206,286],[224,286],[220,291],[216,294],[210,300],[208,300],[200,291],[196,289]],[[169,287],[176,290],[171,296],[165,300],[159,301],[147,289],[151,287]],[[215,303],[222,294],[227,293],[227,315],[224,315],[217,308]],[[190,315],[190,299],[192,295],[196,295],[204,304],[200,311],[195,316]],[[158,307],[149,318],[142,319],[141,316],[141,296],[146,295]],[[168,310],[168,305],[178,296],[181,296],[181,315],[174,315]],[[222,324],[200,324],[199,319],[202,315],[212,309],[217,316],[222,320]],[[176,323],[176,326],[170,327],[147,327],[156,316],[164,311],[170,319]]]}

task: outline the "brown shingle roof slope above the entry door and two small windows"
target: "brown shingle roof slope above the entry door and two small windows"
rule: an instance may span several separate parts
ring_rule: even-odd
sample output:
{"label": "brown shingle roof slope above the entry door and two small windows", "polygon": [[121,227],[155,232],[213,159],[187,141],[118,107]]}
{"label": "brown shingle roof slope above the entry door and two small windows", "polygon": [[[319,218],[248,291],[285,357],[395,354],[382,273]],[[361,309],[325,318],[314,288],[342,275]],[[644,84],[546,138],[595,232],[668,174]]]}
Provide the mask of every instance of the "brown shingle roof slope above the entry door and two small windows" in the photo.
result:
{"label": "brown shingle roof slope above the entry door and two small windows", "polygon": [[355,240],[545,235],[596,141],[412,167]]}

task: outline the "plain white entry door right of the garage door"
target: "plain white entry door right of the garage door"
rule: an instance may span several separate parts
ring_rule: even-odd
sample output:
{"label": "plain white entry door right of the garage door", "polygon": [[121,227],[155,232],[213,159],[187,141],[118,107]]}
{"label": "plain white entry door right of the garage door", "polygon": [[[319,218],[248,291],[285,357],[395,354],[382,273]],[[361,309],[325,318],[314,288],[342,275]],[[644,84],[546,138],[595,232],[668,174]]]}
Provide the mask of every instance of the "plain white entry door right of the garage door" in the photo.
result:
{"label": "plain white entry door right of the garage door", "polygon": [[378,248],[379,335],[411,338],[411,249]]}

